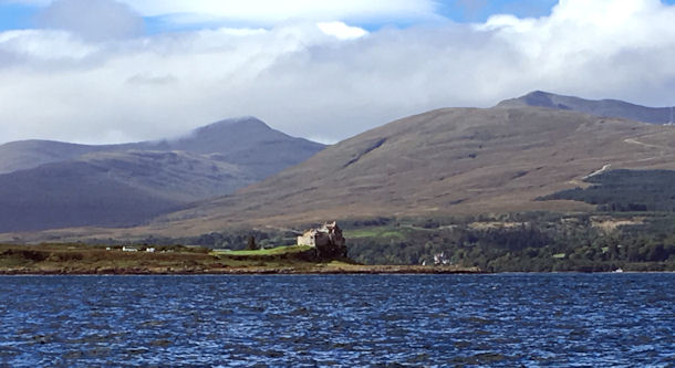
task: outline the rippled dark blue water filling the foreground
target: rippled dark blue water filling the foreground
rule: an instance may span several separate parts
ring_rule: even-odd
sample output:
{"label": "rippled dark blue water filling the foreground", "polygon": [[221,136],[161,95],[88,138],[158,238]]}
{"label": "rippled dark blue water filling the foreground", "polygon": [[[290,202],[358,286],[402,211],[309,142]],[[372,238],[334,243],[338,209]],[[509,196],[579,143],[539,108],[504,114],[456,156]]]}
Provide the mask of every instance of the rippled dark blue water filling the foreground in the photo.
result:
{"label": "rippled dark blue water filling the foreground", "polygon": [[675,274],[2,276],[0,366],[673,367]]}

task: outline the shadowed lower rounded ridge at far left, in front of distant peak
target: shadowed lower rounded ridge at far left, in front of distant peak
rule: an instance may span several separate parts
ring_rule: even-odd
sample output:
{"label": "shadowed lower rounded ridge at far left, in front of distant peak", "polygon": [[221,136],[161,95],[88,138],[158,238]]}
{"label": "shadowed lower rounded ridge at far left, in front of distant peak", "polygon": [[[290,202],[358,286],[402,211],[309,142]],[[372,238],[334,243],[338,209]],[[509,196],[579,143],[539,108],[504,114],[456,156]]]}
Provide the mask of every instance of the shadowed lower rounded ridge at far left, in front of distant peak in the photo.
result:
{"label": "shadowed lower rounded ridge at far left, in front of distant peak", "polygon": [[0,176],[0,231],[132,225],[253,181],[195,154],[89,154]]}

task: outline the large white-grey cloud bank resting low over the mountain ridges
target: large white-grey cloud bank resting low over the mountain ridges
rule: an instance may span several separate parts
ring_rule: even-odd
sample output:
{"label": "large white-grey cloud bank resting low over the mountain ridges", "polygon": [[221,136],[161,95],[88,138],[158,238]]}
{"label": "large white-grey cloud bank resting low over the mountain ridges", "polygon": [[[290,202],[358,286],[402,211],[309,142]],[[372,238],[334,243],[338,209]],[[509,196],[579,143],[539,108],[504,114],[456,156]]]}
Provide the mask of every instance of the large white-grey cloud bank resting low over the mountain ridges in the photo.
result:
{"label": "large white-grey cloud bank resting low over the mountain ridges", "polygon": [[326,32],[315,21],[105,42],[4,32],[0,140],[153,139],[255,115],[334,141],[427,109],[490,106],[532,90],[675,105],[673,20],[675,7],[657,0],[567,0],[539,19],[346,39],[336,35],[357,31],[349,22]]}

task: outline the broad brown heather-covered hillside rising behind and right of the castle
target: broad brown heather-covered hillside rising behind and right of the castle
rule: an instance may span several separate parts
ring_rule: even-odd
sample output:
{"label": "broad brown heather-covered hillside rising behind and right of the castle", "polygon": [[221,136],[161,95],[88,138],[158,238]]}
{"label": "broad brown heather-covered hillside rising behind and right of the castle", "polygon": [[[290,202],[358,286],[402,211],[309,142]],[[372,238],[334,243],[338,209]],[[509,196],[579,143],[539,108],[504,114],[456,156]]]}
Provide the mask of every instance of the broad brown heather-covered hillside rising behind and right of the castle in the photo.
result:
{"label": "broad brown heather-covered hillside rising behind and right of the castle", "polygon": [[143,231],[201,233],[222,223],[519,210],[588,210],[539,197],[610,168],[675,169],[675,127],[542,107],[445,108],[331,146],[233,196]]}

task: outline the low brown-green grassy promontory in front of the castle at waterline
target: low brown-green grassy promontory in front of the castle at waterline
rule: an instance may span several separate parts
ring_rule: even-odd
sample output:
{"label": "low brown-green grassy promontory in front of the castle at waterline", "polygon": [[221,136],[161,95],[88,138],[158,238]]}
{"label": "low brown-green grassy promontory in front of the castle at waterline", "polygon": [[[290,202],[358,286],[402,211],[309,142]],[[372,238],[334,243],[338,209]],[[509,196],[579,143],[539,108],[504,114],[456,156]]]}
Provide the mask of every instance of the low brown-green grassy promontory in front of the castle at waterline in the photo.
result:
{"label": "low brown-green grassy promontory in front of the castle at waterline", "polygon": [[0,244],[0,274],[477,273],[476,267],[363,265],[312,246],[211,250],[185,245]]}

